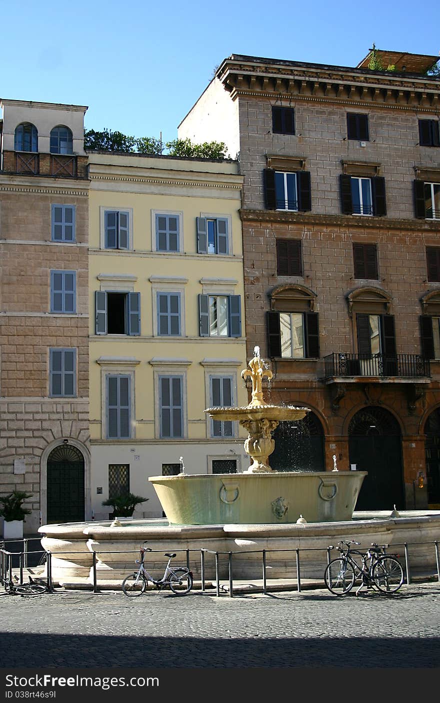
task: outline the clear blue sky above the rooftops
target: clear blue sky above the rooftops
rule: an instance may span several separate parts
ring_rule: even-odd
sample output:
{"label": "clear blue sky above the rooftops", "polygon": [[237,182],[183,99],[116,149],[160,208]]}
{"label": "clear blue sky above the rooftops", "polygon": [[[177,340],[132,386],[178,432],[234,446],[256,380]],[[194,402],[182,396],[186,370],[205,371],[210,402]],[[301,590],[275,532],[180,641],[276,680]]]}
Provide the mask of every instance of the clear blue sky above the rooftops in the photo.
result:
{"label": "clear blue sky above the rooftops", "polygon": [[21,0],[1,8],[0,96],[89,105],[87,129],[177,136],[231,53],[355,66],[372,46],[440,51],[440,3]]}

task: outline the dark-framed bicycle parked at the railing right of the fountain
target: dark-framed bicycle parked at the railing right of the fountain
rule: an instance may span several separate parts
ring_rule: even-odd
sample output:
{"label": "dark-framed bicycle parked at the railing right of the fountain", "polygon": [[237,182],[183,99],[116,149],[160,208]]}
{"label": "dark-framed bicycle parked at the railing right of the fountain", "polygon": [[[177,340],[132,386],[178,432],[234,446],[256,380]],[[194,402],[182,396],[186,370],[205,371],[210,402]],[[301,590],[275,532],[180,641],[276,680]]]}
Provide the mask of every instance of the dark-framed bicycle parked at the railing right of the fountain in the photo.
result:
{"label": "dark-framed bicycle parked at the railing right of the fountain", "polygon": [[[365,553],[352,550],[351,544],[359,544],[359,542],[354,540],[338,542],[337,550],[341,556],[333,559],[325,569],[324,582],[331,593],[335,595],[349,593],[358,578],[361,579],[361,585],[357,588],[356,595],[363,586],[377,588],[380,593],[387,595],[399,591],[403,583],[403,569],[397,560],[399,554],[385,552],[389,547],[388,544],[378,546],[373,542]],[[334,547],[330,545],[329,548]],[[344,550],[344,548],[347,549]],[[361,557],[361,566],[356,562],[354,555]]]}

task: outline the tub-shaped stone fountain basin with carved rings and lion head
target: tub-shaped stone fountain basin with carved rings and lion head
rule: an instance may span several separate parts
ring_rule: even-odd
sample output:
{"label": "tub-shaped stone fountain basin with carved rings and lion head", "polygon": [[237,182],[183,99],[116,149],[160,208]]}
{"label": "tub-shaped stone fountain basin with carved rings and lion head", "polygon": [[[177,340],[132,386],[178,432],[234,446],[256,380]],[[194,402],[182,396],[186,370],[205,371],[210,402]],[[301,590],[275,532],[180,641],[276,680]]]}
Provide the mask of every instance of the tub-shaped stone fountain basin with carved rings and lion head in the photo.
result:
{"label": "tub-shaped stone fountain basin with carved rings and lion head", "polygon": [[351,520],[366,471],[152,476],[170,524]]}

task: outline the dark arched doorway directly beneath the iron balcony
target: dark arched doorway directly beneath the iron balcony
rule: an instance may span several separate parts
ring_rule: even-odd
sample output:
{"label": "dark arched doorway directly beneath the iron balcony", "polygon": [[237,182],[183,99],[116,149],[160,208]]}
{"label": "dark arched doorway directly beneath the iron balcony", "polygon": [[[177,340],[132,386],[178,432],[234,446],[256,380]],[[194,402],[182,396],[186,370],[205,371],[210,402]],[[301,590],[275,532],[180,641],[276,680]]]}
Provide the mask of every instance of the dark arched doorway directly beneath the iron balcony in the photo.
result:
{"label": "dark arched doorway directly beneath the iron balcony", "polygon": [[368,471],[356,510],[404,508],[401,430],[384,408],[363,408],[349,424],[349,463]]}

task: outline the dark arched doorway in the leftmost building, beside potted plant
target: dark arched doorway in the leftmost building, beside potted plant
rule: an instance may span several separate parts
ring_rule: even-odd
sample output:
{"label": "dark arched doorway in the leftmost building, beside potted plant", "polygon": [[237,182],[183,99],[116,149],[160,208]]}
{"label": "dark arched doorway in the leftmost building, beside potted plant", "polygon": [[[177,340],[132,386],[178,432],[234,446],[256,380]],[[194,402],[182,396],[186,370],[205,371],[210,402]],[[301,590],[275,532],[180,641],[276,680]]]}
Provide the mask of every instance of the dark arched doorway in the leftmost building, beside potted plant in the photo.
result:
{"label": "dark arched doorway in the leftmost building, beside potted plant", "polygon": [[84,512],[84,456],[60,444],[47,459],[47,522],[82,522]]}

